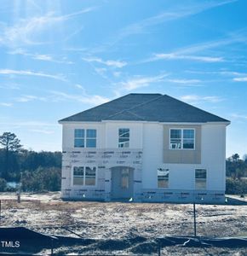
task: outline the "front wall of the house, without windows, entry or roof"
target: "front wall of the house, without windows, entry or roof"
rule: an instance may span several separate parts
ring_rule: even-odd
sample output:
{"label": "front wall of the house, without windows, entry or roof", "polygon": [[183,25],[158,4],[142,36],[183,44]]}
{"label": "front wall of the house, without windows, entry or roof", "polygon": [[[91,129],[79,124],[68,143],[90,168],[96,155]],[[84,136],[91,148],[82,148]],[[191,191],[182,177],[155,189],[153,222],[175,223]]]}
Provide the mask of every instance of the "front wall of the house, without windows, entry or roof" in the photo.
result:
{"label": "front wall of the house, without windows, entry or roof", "polygon": [[[62,197],[65,199],[111,200],[114,166],[134,171],[134,201],[223,202],[225,193],[226,125],[179,125],[196,129],[192,163],[176,160],[169,152],[167,129],[159,123],[102,122],[63,125]],[[96,148],[73,148],[74,129],[97,129]],[[118,129],[129,128],[129,148],[118,148]],[[175,152],[175,150],[172,150]],[[182,150],[185,151],[185,150]],[[190,150],[192,151],[192,150]],[[125,152],[125,153],[123,153]],[[166,153],[165,153],[166,152]],[[169,154],[169,157],[164,156]],[[170,160],[172,159],[172,161]],[[95,188],[72,185],[72,166],[97,167]],[[158,188],[157,169],[169,169],[169,188]],[[207,189],[195,190],[195,169],[207,170]]]}

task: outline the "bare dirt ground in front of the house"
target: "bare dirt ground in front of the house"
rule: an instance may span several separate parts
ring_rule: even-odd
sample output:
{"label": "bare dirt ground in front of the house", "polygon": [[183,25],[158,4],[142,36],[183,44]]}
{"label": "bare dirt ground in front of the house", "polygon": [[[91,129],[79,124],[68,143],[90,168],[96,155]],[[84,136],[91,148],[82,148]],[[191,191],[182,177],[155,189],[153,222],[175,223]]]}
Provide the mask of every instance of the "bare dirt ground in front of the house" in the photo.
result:
{"label": "bare dirt ground in front of the house", "polygon": [[[1,226],[23,226],[49,235],[78,237],[76,233],[95,240],[88,246],[55,248],[63,255],[157,255],[158,236],[193,236],[191,204],[61,201],[60,193],[22,194],[20,203],[14,193],[2,193],[0,200]],[[198,236],[247,236],[247,206],[196,209]],[[45,253],[49,251],[40,252]],[[162,248],[161,255],[247,255],[247,247],[173,246]]]}

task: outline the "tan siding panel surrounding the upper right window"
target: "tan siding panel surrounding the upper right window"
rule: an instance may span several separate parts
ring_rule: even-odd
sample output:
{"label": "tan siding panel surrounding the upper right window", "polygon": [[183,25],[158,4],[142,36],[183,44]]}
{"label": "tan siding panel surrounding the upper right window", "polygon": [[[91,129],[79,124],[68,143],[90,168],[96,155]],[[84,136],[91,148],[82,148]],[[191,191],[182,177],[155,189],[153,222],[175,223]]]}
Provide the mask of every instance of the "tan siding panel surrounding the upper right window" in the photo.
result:
{"label": "tan siding panel surrounding the upper right window", "polygon": [[[170,149],[170,129],[194,129],[194,149]],[[201,125],[164,125],[164,163],[169,164],[201,164]]]}

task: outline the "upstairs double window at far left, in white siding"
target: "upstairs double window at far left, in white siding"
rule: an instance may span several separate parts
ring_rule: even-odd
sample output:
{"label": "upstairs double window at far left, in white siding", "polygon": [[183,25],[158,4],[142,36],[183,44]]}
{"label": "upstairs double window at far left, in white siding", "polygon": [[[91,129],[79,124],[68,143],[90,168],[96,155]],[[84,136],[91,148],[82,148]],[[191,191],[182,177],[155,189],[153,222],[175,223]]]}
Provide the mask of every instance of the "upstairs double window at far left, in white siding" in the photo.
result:
{"label": "upstairs double window at far left, in white siding", "polygon": [[74,147],[96,148],[96,136],[97,133],[95,129],[75,129]]}

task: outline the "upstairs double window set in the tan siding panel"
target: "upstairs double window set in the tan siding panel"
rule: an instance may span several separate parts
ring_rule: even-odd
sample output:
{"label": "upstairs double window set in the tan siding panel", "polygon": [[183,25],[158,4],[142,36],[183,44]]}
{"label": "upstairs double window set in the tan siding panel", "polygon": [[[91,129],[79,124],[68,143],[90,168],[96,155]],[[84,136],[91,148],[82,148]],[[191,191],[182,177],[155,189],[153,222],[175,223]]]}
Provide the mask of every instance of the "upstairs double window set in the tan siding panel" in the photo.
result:
{"label": "upstairs double window set in the tan siding panel", "polygon": [[169,131],[170,149],[194,149],[195,130],[194,129],[170,129]]}

